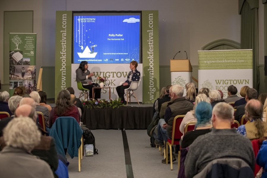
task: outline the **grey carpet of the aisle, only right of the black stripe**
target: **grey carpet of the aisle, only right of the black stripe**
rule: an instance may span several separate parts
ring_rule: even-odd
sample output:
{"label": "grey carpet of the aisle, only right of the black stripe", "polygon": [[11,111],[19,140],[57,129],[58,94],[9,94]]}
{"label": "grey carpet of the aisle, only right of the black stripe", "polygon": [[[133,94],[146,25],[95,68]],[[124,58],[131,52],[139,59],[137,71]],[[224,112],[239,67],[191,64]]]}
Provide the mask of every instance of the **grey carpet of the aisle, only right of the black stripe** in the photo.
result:
{"label": "grey carpet of the aisle, only right of the black stripe", "polygon": [[147,130],[126,130],[131,162],[135,178],[168,177],[176,178],[178,175],[178,159],[173,162],[173,170],[170,164],[163,164],[158,148],[150,147],[150,138]]}

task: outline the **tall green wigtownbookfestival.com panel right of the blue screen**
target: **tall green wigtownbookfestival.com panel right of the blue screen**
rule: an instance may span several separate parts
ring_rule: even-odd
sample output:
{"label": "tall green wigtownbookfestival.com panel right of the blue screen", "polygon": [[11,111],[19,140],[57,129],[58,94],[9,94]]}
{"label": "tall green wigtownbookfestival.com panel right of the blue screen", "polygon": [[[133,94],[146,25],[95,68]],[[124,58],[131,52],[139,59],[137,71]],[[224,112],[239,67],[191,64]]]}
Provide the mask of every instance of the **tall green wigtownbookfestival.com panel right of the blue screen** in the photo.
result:
{"label": "tall green wigtownbookfestival.com panel right of the blue screen", "polygon": [[143,103],[159,97],[158,11],[142,11]]}

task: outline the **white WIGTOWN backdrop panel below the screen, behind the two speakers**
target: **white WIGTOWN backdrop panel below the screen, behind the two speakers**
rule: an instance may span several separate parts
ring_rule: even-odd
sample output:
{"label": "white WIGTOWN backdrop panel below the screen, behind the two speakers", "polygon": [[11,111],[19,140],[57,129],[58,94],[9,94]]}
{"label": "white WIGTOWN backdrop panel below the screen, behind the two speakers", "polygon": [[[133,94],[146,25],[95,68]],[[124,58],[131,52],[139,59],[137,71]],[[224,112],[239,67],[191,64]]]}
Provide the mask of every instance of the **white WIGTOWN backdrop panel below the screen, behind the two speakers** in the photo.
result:
{"label": "white WIGTOWN backdrop panel below the screen, behind the two speakers", "polygon": [[[78,98],[80,95],[80,90],[77,88],[76,80],[76,69],[78,69],[80,64],[71,64],[71,87],[74,89],[75,96]],[[111,87],[110,97],[115,99],[118,97],[116,87],[120,85],[120,82],[125,82],[127,80],[127,75],[129,73],[130,64],[90,64],[88,70],[90,72],[94,72],[95,76],[92,77],[96,82],[96,77],[108,77],[109,86]],[[138,64],[137,70],[141,74],[140,82],[138,89],[134,92],[138,98],[139,102],[143,101],[143,85],[142,85],[142,74],[143,74],[143,66],[141,63]],[[103,88],[101,90],[101,99],[109,99],[109,89]],[[125,99],[126,100],[126,99]],[[131,99],[131,102],[137,102],[135,98]]]}

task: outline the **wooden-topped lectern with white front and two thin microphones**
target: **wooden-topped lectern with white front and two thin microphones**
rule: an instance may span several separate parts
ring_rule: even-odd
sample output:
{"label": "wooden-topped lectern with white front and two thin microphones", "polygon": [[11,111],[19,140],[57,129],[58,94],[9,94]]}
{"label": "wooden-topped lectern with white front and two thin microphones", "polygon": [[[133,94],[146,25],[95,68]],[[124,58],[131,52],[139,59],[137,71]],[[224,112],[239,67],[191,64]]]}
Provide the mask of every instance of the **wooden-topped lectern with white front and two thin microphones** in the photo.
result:
{"label": "wooden-topped lectern with white front and two thin microphones", "polygon": [[[171,59],[171,85],[181,85],[185,88],[185,84],[192,82],[192,66],[189,59]],[[186,90],[184,90],[184,96]]]}

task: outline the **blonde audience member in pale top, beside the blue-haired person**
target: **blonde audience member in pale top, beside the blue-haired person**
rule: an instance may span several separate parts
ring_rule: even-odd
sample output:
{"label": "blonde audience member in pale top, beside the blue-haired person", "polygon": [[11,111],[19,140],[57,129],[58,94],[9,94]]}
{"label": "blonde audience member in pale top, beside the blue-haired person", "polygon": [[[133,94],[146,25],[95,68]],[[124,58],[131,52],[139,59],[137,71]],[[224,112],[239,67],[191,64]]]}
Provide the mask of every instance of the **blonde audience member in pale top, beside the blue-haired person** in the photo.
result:
{"label": "blonde audience member in pale top, beside the blue-haired person", "polygon": [[[196,97],[196,102],[195,102],[195,105],[193,107],[193,110],[188,111],[186,113],[185,117],[182,120],[182,123],[180,124],[179,130],[180,130],[181,133],[184,133],[185,125],[187,123],[196,122],[197,121],[196,115],[195,115],[195,109],[196,109],[196,106],[198,105],[198,103],[200,103],[201,101],[206,101],[207,103],[209,103],[209,98],[205,94],[199,94]],[[183,138],[183,136],[182,136],[182,138]]]}

